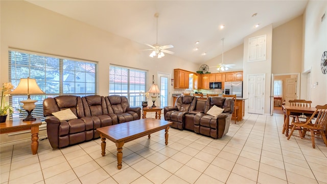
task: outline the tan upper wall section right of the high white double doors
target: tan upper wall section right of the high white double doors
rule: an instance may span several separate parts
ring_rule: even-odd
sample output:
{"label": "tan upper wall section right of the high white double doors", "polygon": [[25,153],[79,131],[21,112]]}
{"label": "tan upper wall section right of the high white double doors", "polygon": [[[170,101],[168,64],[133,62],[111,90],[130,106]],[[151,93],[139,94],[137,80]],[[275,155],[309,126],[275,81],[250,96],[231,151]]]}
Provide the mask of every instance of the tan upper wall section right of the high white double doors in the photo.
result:
{"label": "tan upper wall section right of the high white double doors", "polygon": [[273,74],[301,72],[302,22],[301,15],[272,30]]}

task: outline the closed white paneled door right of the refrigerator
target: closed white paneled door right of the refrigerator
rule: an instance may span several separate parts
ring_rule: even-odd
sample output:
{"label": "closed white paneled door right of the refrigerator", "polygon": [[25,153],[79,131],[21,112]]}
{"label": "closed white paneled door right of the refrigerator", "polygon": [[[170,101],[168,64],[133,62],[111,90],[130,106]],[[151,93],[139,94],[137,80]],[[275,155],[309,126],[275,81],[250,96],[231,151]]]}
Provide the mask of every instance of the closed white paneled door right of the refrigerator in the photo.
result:
{"label": "closed white paneled door right of the refrigerator", "polygon": [[249,113],[264,114],[265,112],[265,74],[249,75],[248,85]]}

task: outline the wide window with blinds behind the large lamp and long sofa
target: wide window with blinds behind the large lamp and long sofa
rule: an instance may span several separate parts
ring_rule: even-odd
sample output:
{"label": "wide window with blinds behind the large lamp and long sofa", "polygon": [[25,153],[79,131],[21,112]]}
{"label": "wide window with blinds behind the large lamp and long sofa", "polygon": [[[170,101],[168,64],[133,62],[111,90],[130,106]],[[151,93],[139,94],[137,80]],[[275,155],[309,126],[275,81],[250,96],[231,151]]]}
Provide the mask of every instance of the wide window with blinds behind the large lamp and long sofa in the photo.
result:
{"label": "wide window with blinds behind the large lamp and long sofa", "polygon": [[[42,102],[45,98],[59,95],[95,95],[97,94],[96,76],[96,62],[28,51],[9,51],[9,80],[11,83],[16,87],[20,78],[35,78],[45,93],[43,95],[31,95],[31,99],[38,100],[35,103],[36,107],[32,116],[41,117],[42,120],[44,119]],[[27,95],[12,95],[10,97],[10,105],[15,108],[13,119],[27,116],[27,112],[19,103],[26,99]]]}

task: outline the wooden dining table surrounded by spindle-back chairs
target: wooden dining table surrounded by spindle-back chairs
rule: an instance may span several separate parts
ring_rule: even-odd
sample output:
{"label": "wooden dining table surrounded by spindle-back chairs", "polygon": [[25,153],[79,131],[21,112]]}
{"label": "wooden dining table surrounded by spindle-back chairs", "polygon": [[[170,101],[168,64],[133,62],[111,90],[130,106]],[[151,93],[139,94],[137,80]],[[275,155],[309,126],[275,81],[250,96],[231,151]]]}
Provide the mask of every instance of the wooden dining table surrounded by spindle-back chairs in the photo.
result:
{"label": "wooden dining table surrounded by spindle-back chairs", "polygon": [[316,107],[303,107],[303,106],[288,106],[288,105],[282,105],[283,109],[286,110],[286,119],[284,122],[283,127],[283,134],[286,130],[285,136],[288,136],[289,127],[290,127],[290,114],[291,112],[300,112],[300,113],[310,113],[313,114],[313,112],[316,110]]}

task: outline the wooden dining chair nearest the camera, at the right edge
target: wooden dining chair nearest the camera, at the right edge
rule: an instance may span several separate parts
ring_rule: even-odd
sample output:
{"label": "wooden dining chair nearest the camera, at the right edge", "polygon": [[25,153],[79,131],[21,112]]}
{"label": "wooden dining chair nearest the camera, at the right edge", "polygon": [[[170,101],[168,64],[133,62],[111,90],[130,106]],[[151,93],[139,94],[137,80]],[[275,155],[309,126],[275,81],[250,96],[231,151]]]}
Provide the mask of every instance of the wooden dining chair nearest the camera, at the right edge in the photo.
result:
{"label": "wooden dining chair nearest the camera, at the right edge", "polygon": [[[312,119],[317,114],[317,118],[315,123],[312,123]],[[311,133],[311,142],[312,147],[315,148],[315,135],[321,135],[323,143],[327,146],[327,139],[324,133],[325,126],[327,124],[327,104],[325,105],[317,105],[316,110],[312,114],[312,116],[306,122],[292,122],[292,130],[291,133],[288,135],[287,140],[290,139],[293,131],[296,127],[301,128],[300,137],[301,139],[306,136],[307,131]]]}

